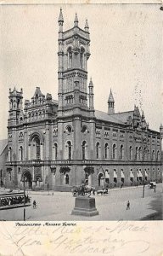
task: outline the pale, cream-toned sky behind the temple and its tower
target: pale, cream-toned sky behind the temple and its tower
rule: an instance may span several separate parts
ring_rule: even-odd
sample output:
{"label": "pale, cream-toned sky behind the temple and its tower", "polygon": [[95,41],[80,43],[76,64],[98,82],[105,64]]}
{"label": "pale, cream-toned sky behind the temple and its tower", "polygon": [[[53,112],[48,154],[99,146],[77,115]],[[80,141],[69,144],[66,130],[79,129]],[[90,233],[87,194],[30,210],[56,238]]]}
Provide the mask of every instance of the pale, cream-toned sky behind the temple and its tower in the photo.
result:
{"label": "pale, cream-toned sky behind the temple and its tower", "polygon": [[160,6],[152,4],[0,5],[0,139],[7,137],[8,90],[23,88],[31,99],[39,86],[58,99],[58,18],[64,30],[78,15],[88,20],[88,82],[94,84],[95,109],[107,112],[112,90],[115,112],[144,112],[159,131],[162,114],[162,25]]}

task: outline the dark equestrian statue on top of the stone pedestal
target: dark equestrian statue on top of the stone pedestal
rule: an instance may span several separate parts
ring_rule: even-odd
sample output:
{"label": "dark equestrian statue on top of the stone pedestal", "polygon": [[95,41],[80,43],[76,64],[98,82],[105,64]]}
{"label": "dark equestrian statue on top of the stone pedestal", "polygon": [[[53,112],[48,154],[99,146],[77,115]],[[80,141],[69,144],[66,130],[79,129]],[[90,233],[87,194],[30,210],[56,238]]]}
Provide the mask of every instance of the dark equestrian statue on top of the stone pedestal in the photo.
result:
{"label": "dark equestrian statue on top of the stone pedestal", "polygon": [[90,196],[91,193],[93,192],[93,195],[95,195],[95,188],[89,186],[89,185],[79,185],[79,186],[74,186],[72,191],[73,196]]}

